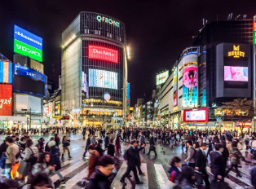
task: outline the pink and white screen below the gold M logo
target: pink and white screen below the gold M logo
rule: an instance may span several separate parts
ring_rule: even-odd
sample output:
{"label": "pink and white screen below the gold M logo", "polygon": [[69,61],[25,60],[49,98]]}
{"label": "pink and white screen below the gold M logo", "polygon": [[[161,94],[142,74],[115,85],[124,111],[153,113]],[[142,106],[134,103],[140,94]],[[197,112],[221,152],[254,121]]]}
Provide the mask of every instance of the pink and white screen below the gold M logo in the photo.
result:
{"label": "pink and white screen below the gold M logo", "polygon": [[224,81],[248,81],[248,67],[224,66]]}

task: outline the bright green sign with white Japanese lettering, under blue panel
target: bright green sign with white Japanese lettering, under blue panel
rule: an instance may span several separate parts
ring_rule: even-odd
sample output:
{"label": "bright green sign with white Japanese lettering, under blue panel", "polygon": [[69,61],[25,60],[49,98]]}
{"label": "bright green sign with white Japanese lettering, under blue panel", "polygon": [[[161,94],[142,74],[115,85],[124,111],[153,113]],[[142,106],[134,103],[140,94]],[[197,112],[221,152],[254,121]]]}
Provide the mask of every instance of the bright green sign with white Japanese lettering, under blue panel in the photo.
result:
{"label": "bright green sign with white Japanese lettering, under blue panel", "polygon": [[34,48],[33,46],[29,46],[24,42],[20,42],[18,40],[14,40],[14,51],[20,55],[29,56],[31,59],[38,60],[42,62],[42,51]]}

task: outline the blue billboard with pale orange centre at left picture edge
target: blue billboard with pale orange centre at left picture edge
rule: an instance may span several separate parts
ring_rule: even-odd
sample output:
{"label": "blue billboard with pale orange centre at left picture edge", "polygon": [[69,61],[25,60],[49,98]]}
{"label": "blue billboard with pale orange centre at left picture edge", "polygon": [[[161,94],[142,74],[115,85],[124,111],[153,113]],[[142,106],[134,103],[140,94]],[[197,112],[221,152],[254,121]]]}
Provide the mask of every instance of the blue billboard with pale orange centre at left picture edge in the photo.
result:
{"label": "blue billboard with pale orange centre at left picture edge", "polygon": [[12,63],[0,60],[0,83],[12,83]]}

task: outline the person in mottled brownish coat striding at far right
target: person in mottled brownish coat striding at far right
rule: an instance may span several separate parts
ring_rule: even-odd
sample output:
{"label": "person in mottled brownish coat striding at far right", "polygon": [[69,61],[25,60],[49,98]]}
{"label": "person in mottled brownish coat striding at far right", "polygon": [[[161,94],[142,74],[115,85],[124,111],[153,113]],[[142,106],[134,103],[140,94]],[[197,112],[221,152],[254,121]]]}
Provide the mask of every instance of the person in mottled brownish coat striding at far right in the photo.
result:
{"label": "person in mottled brownish coat striding at far right", "polygon": [[236,169],[236,177],[242,177],[240,172],[238,171],[238,165],[240,164],[240,159],[244,159],[245,157],[238,150],[236,141],[232,142],[232,147],[230,148],[229,153],[230,153],[230,161],[232,165],[230,166],[229,169],[227,169],[226,177],[228,178],[228,173],[233,168]]}

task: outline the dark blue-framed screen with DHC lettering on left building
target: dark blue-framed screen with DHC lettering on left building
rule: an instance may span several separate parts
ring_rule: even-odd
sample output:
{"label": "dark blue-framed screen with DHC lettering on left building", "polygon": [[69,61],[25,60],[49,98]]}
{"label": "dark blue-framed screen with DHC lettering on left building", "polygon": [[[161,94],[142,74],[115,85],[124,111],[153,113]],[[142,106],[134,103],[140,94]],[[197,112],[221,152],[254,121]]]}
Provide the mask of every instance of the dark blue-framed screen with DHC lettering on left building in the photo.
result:
{"label": "dark blue-framed screen with DHC lettering on left building", "polygon": [[28,67],[14,64],[13,91],[44,97],[46,76]]}

